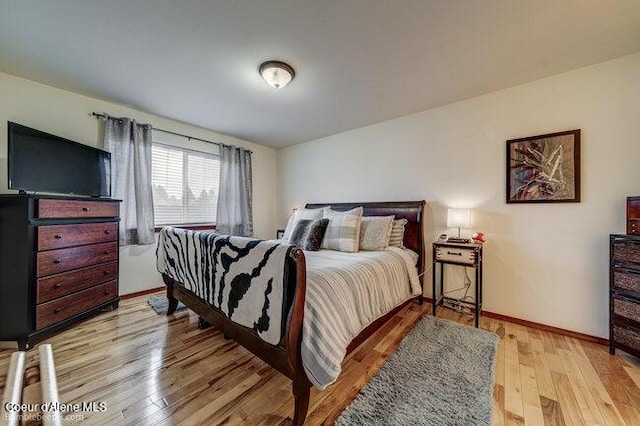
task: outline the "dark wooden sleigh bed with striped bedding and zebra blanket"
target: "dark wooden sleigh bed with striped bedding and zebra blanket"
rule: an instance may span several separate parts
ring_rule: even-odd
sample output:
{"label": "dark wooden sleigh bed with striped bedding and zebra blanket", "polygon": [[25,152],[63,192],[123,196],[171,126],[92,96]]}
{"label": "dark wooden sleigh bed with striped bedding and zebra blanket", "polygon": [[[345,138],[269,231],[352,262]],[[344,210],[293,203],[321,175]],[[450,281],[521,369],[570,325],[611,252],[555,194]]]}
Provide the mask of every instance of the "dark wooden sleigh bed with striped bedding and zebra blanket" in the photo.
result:
{"label": "dark wooden sleigh bed with striped bedding and zebra blanket", "polygon": [[[158,269],[163,274],[169,301],[167,315],[173,314],[178,301],[181,301],[200,316],[203,324],[209,323],[216,326],[226,338],[233,339],[290,378],[295,400],[293,419],[295,425],[304,423],[312,385],[322,389],[332,383],[340,372],[340,363],[346,354],[357,348],[406,303],[413,301],[422,303],[425,202],[322,203],[307,204],[305,208],[314,209],[325,206],[331,206],[335,211],[346,211],[362,206],[363,216],[394,215],[397,219],[407,219],[403,245],[417,256],[411,259],[406,250],[395,247],[386,249],[384,252],[356,254],[331,250],[304,252],[295,246],[252,240],[248,244],[254,251],[263,250],[260,252],[262,257],[253,260],[253,263],[250,263],[253,266],[246,267],[247,263],[245,263],[247,270],[235,274],[237,278],[234,278],[235,286],[228,280],[226,287],[222,285],[218,290],[218,288],[209,289],[206,284],[211,280],[209,275],[216,273],[215,266],[208,265],[200,276],[189,271],[176,272],[175,264],[178,262],[173,257],[181,257],[183,262],[191,265],[209,263],[210,256],[203,253],[213,251],[211,247],[220,248],[221,244],[229,244],[231,241],[236,246],[242,246],[234,247],[236,252],[241,252],[244,246],[238,243],[240,240],[234,240],[239,237],[197,234],[195,242],[181,243],[179,239],[175,242],[161,234],[158,245]],[[173,232],[179,235],[179,232]],[[164,252],[167,250],[171,250],[174,255],[169,256],[169,261],[164,261],[162,259],[166,256]],[[271,256],[271,263],[278,265],[278,262],[281,262],[282,270],[275,268],[273,271],[267,271],[269,266],[265,266],[265,262],[259,260],[265,258],[265,253]],[[219,254],[218,257],[220,257]],[[375,264],[375,262],[378,263]],[[406,269],[401,267],[403,262],[406,264]],[[168,263],[171,265],[167,265]],[[360,290],[357,292],[350,289],[348,284],[344,284],[339,290],[328,290],[335,294],[322,293],[323,288],[329,287],[327,282],[344,281],[346,283],[343,275],[357,275],[352,272],[342,272],[345,265],[352,268],[350,271],[354,270],[353,268],[359,270],[362,276],[361,281],[368,274],[382,277],[381,279],[385,282],[402,280],[405,282],[393,286],[379,285],[375,288],[372,285],[370,290],[362,290],[367,287],[362,281],[362,285],[358,287]],[[233,265],[225,267],[233,268]],[[412,270],[412,267],[415,269]],[[256,290],[249,289],[248,284],[243,287],[243,282],[250,280],[247,277],[260,275],[260,268],[263,268],[263,276],[268,278],[271,277],[269,274],[273,275],[268,280],[268,286],[256,287]],[[405,270],[406,274],[403,275],[401,270]],[[284,284],[272,285],[274,282]],[[333,284],[331,285],[333,289]],[[223,290],[223,288],[226,289]],[[242,288],[245,299],[249,301],[252,300],[249,293],[254,291],[258,296],[262,293],[265,297],[269,295],[271,303],[268,300],[266,303],[260,302],[262,304],[256,302],[256,306],[249,308],[245,307],[248,302],[239,305],[232,297],[234,289],[237,288]],[[364,293],[366,293],[365,296],[363,296]],[[224,303],[222,303],[223,299]],[[274,300],[277,303],[274,303]],[[336,318],[340,315],[334,315],[334,312],[342,308],[356,313],[339,323],[340,321]],[[245,309],[256,311],[255,320],[245,324],[242,321],[230,319],[238,317],[236,313]],[[264,326],[265,318],[271,320],[270,327]],[[332,337],[327,340],[326,336]]]}

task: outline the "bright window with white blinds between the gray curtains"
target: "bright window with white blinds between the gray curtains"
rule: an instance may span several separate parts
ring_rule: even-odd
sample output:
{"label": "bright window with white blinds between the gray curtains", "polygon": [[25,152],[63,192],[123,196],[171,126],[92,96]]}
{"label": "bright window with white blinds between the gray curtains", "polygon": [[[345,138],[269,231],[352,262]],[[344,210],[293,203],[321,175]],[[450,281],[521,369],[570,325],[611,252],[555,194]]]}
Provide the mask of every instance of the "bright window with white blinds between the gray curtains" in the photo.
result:
{"label": "bright window with white blinds between the gray curtains", "polygon": [[154,143],[151,175],[156,226],[215,224],[218,156]]}

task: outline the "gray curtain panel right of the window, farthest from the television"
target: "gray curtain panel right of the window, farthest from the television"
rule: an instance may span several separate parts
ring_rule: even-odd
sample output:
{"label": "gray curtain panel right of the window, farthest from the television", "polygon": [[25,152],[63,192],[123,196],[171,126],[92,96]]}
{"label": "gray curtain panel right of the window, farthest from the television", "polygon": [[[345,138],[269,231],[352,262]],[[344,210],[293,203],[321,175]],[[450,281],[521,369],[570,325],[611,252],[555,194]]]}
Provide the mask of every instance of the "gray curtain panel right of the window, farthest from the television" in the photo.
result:
{"label": "gray curtain panel right of the window, farthest from the television", "polygon": [[251,151],[220,145],[217,232],[253,236],[251,186]]}

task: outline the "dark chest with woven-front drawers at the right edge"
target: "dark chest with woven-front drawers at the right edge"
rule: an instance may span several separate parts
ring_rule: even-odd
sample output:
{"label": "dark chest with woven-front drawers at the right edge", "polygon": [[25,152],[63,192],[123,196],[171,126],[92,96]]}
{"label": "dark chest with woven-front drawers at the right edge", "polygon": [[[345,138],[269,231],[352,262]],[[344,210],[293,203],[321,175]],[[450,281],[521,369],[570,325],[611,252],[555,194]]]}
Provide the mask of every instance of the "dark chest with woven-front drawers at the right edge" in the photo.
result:
{"label": "dark chest with woven-front drawers at the right edge", "polygon": [[640,236],[609,237],[609,352],[640,356]]}

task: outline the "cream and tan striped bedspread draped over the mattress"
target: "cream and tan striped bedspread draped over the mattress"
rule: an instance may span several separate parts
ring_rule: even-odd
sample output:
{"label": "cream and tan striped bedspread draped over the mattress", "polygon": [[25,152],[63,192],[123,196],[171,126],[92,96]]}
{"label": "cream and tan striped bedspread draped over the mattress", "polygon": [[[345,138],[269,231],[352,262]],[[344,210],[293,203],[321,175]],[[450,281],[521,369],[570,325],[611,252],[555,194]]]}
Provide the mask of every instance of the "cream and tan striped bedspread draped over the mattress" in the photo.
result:
{"label": "cream and tan striped bedspread draped over the mattress", "polygon": [[353,338],[376,319],[419,295],[421,288],[414,261],[398,247],[304,254],[307,292],[302,362],[311,383],[324,389],[338,378]]}

